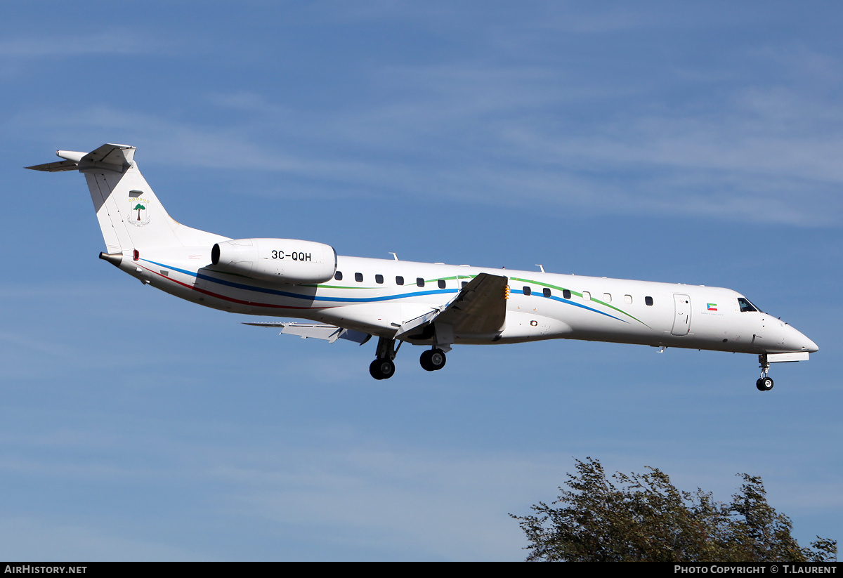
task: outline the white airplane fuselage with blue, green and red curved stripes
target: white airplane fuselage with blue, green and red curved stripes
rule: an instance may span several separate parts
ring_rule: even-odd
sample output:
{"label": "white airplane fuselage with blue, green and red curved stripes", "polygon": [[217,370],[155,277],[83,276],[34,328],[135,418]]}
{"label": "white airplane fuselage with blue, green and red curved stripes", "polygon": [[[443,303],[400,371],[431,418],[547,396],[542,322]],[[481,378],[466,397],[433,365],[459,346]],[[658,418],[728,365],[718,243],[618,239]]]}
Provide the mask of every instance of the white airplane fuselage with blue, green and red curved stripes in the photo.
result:
{"label": "white airplane fuselage with blue, green and red curved stripes", "polygon": [[488,273],[509,279],[506,323],[495,334],[454,334],[454,344],[561,338],[754,354],[818,349],[779,319],[742,311],[738,299],[745,302],[744,297],[722,287],[343,256],[336,265],[341,279],[287,285],[217,270],[209,265],[210,249],[147,249],[137,260],[124,256],[120,266],[207,307],[305,318],[386,338],[407,320],[442,308],[465,283]]}

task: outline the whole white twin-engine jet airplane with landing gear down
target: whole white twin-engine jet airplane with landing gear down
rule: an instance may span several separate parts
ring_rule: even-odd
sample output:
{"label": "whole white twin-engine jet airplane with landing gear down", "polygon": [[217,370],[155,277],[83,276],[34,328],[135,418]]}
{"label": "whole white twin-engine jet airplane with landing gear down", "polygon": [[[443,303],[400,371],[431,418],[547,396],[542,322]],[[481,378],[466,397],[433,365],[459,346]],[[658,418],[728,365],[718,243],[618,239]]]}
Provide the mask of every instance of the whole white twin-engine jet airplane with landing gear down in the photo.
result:
{"label": "whole white twin-engine jet airplane with landing gear down", "polygon": [[732,351],[771,363],[806,361],[812,340],[722,287],[346,257],[290,238],[232,239],[169,217],[134,161],[135,147],[56,151],[27,169],[85,175],[108,261],[142,283],[232,313],[310,323],[250,323],[302,338],[378,337],[369,373],[395,374],[403,343],[423,345],[421,367],[442,369],[452,345],[569,339]]}

